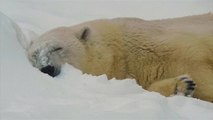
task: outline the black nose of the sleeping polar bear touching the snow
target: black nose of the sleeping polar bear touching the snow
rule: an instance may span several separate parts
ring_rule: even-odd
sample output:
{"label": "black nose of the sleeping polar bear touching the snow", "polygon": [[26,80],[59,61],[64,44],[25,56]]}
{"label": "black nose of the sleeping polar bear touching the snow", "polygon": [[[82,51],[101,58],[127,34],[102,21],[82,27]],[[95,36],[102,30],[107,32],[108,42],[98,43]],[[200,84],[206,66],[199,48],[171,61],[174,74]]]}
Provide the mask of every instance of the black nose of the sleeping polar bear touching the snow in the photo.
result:
{"label": "black nose of the sleeping polar bear touching the snow", "polygon": [[58,68],[56,68],[54,66],[50,66],[50,65],[41,68],[40,71],[45,73],[45,74],[48,74],[48,75],[50,75],[52,77],[55,77],[55,76],[59,75],[60,72],[61,72],[60,69],[58,69]]}

